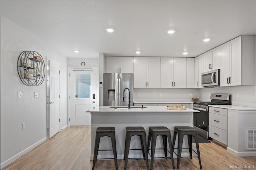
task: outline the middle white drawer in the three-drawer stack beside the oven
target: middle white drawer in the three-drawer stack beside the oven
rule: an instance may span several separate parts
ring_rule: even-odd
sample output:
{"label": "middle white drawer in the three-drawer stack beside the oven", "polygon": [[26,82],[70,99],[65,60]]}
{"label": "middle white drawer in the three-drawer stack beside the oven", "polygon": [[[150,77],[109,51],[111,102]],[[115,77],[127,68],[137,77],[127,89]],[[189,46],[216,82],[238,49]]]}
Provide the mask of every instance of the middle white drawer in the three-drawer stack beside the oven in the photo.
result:
{"label": "middle white drawer in the three-drawer stack beside the oven", "polygon": [[228,116],[209,113],[209,125],[228,131]]}

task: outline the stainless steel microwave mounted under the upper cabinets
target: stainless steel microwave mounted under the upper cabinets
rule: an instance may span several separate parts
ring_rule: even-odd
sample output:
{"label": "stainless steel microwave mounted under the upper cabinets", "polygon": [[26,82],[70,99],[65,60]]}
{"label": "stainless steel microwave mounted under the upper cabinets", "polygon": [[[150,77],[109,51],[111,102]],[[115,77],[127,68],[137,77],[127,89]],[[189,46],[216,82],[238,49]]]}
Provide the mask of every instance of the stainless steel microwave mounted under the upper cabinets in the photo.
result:
{"label": "stainless steel microwave mounted under the upper cabinets", "polygon": [[210,70],[202,73],[202,86],[220,86],[220,69]]}

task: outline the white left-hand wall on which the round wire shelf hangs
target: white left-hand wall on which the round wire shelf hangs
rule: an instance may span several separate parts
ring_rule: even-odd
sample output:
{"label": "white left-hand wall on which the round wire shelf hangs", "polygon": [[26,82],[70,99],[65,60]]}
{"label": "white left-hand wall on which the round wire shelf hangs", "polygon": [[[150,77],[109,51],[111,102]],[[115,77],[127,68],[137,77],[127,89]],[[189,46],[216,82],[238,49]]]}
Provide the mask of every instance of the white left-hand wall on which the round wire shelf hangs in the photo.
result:
{"label": "white left-hand wall on which the round wire shelf hangs", "polygon": [[[46,140],[46,80],[40,86],[25,86],[17,73],[22,51],[37,51],[61,64],[60,127],[67,125],[67,59],[6,17],[0,15],[1,156],[0,168]],[[23,98],[18,98],[22,92]],[[38,92],[38,98],[34,98]],[[26,129],[22,130],[22,123]]]}

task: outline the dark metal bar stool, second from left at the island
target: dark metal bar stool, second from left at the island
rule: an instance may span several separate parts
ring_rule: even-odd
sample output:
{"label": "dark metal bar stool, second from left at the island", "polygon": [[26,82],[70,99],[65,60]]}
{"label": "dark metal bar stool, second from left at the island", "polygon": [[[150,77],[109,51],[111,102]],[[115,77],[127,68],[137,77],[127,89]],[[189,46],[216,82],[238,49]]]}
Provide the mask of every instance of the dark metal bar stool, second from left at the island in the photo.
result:
{"label": "dark metal bar stool, second from left at the island", "polygon": [[[134,135],[140,136],[141,149],[130,149],[131,137]],[[146,164],[149,170],[146,145],[147,145],[146,132],[144,127],[126,127],[126,137],[125,137],[125,147],[124,147],[124,160],[125,160],[124,170],[126,170],[127,168],[128,159],[134,159],[134,158],[128,158],[129,150],[142,150],[143,158],[146,160]]]}

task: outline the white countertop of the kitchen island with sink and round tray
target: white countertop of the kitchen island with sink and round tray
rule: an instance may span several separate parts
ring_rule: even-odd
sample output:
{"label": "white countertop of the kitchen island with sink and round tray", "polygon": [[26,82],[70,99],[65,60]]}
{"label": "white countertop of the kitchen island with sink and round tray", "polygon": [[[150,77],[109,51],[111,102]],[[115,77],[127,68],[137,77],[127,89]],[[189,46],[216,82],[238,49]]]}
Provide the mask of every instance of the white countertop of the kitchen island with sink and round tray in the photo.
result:
{"label": "white countertop of the kitchen island with sink and round tray", "polygon": [[[131,109],[128,108],[110,108],[115,106],[97,106],[87,112],[90,113],[191,113],[191,112],[200,112],[198,110],[189,109],[186,110],[168,110],[166,106],[146,106],[147,108],[132,108],[138,106],[131,106]],[[120,106],[117,106],[120,107]],[[121,106],[122,107],[122,106]],[[127,106],[123,106],[127,107]]]}

